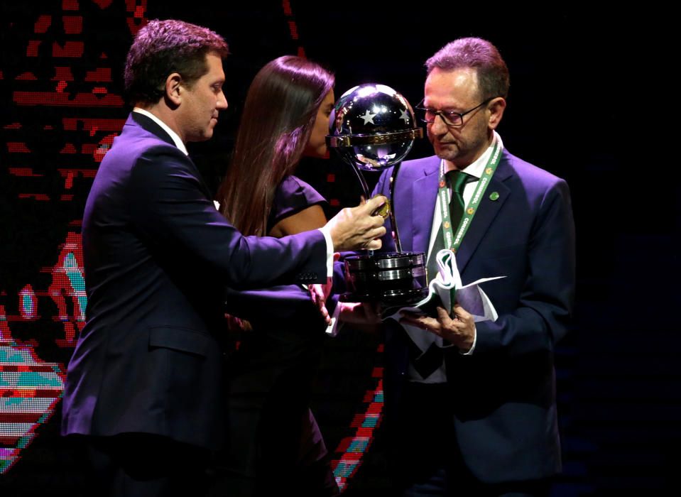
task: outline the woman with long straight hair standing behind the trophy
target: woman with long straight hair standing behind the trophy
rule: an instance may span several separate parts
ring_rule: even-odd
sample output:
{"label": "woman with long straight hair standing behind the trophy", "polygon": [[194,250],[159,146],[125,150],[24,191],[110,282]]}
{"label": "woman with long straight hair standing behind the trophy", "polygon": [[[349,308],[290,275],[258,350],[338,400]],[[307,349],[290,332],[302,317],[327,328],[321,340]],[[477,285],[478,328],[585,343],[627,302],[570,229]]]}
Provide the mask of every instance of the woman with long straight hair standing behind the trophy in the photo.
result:
{"label": "woman with long straight hair standing behind the trophy", "polygon": [[[324,157],[334,77],[295,56],[269,62],[249,88],[233,158],[219,187],[220,212],[241,233],[287,236],[326,224],[325,200],[293,172],[303,155]],[[229,495],[334,496],[337,485],[310,411],[327,324],[302,287],[239,292],[228,361]]]}

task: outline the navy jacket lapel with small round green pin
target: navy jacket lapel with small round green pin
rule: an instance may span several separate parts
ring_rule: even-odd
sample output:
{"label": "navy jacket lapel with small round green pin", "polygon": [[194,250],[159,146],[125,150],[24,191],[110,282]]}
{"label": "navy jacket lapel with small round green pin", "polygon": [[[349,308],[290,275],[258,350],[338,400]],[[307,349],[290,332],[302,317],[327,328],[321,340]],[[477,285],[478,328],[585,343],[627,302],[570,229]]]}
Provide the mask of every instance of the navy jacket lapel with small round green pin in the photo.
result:
{"label": "navy jacket lapel with small round green pin", "polygon": [[[457,251],[457,267],[459,268],[459,273],[463,273],[466,265],[470,261],[473,253],[477,249],[480,241],[484,237],[489,226],[494,221],[496,214],[501,210],[501,206],[511,190],[504,184],[504,182],[511,177],[513,170],[511,168],[511,158],[503,151],[501,156],[501,161],[499,162],[499,167],[496,169],[496,173],[492,176],[492,179],[485,190],[484,197],[480,201],[480,207],[478,207],[478,212],[476,212],[473,222],[471,223],[464,240],[462,241],[459,250]],[[499,197],[496,200],[491,200],[490,195],[496,192]],[[494,195],[496,197],[496,195]]]}

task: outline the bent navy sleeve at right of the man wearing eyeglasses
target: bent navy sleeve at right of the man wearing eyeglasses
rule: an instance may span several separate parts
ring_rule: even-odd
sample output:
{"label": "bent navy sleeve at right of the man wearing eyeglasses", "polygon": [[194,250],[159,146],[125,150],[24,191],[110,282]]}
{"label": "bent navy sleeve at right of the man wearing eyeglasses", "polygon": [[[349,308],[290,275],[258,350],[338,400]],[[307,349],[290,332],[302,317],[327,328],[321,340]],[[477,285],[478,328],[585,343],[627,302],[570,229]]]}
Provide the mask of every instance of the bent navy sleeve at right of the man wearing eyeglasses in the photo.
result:
{"label": "bent navy sleeve at right of the man wearing eyeglasses", "polygon": [[[552,351],[567,333],[574,301],[574,222],[567,183],[558,180],[540,202],[527,246],[525,283],[516,310],[476,324],[472,356]],[[500,280],[503,282],[503,280]]]}

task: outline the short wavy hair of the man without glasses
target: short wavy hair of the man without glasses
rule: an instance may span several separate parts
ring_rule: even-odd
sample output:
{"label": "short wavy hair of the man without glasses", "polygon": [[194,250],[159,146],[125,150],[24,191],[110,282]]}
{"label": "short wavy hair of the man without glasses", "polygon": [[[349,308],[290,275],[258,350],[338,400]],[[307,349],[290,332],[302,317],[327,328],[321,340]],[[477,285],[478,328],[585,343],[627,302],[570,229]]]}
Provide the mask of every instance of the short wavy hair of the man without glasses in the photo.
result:
{"label": "short wavy hair of the man without glasses", "polygon": [[156,104],[163,97],[168,75],[178,72],[192,83],[208,72],[206,55],[227,57],[222,36],[184,21],[150,21],[141,28],[128,52],[125,91],[131,104]]}

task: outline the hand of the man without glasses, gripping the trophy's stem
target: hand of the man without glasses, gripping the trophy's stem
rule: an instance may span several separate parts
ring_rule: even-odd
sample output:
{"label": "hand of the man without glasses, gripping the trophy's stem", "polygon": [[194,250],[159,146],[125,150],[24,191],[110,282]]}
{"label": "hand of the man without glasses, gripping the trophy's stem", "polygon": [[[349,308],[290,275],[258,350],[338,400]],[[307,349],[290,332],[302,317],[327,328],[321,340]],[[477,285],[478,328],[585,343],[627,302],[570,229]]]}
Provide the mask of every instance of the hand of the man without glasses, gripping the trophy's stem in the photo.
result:
{"label": "hand of the man without glasses, gripping the trophy's stem", "polygon": [[346,207],[336,214],[327,223],[334,251],[380,249],[380,238],[386,234],[383,227],[385,219],[380,214],[372,214],[386,202],[386,197],[377,195],[357,207]]}

